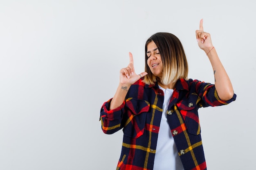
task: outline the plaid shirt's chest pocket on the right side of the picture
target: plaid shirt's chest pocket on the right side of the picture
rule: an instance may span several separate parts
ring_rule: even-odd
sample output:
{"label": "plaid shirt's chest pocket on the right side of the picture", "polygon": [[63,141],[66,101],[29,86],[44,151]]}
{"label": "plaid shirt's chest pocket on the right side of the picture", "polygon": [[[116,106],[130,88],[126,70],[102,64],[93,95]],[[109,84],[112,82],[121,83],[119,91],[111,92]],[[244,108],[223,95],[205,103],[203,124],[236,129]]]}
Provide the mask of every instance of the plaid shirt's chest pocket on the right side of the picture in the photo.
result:
{"label": "plaid shirt's chest pocket on the right side of the picture", "polygon": [[200,100],[200,96],[194,93],[185,100],[177,103],[179,113],[182,115],[187,131],[193,135],[199,135],[201,133],[198,117],[198,102]]}

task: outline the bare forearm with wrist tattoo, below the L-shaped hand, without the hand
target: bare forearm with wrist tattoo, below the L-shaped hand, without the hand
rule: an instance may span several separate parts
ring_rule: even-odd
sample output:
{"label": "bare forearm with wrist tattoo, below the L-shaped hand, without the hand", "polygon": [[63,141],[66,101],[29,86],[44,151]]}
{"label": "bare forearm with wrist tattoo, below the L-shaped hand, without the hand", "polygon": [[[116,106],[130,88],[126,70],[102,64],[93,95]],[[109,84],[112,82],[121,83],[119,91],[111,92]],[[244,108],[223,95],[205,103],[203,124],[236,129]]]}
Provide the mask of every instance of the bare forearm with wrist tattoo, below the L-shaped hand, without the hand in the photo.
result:
{"label": "bare forearm with wrist tattoo, below the L-shaped hand, without the hand", "polygon": [[115,96],[112,98],[110,103],[110,110],[116,109],[117,107],[122,105],[129,89],[130,89],[130,85],[124,85],[124,84],[118,85]]}

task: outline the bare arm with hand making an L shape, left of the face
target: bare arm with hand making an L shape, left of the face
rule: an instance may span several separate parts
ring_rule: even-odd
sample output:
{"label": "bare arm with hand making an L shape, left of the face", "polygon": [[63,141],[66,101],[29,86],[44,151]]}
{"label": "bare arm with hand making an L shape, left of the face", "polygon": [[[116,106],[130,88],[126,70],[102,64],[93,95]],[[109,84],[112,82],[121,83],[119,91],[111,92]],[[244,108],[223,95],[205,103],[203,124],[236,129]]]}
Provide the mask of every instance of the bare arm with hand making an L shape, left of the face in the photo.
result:
{"label": "bare arm with hand making an L shape, left of the face", "polygon": [[133,66],[132,53],[130,52],[129,52],[129,57],[130,57],[130,63],[128,67],[122,68],[120,70],[120,81],[117,87],[117,91],[110,103],[110,110],[116,109],[117,107],[119,107],[124,102],[124,99],[126,97],[128,90],[130,89],[130,86],[136,81],[138,81],[139,78],[148,74],[146,72],[142,72],[141,74],[137,75],[135,73],[135,69]]}

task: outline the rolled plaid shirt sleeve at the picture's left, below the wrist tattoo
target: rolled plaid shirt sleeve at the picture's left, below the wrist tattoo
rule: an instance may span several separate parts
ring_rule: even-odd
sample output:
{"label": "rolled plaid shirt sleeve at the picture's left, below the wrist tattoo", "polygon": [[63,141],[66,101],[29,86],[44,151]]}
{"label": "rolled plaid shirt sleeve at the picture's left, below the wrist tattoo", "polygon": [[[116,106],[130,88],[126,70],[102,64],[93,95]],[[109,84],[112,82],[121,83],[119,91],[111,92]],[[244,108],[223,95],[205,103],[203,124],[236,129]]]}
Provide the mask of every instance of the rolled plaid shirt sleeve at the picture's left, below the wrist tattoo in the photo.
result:
{"label": "rolled plaid shirt sleeve at the picture's left, below the wrist tattoo", "polygon": [[122,116],[124,113],[125,102],[116,109],[109,110],[112,98],[105,102],[100,111],[101,129],[106,134],[112,134],[119,131],[121,127]]}

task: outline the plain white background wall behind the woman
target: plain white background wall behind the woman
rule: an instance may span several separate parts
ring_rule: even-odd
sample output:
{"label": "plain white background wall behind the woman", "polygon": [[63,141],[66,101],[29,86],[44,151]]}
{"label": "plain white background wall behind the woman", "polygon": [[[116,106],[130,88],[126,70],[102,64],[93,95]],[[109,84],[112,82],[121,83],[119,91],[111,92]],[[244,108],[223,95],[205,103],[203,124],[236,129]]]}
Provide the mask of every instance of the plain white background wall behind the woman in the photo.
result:
{"label": "plain white background wall behind the woman", "polygon": [[227,106],[200,109],[209,170],[255,163],[255,2],[251,0],[0,0],[0,170],[114,170],[122,131],[101,131],[99,111],[119,70],[144,44],[176,35],[189,78],[214,83],[195,39],[200,19],[234,86]]}

